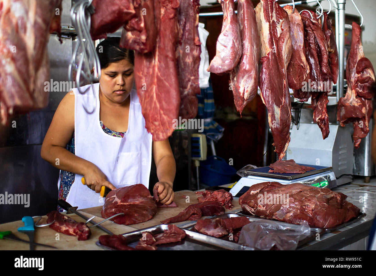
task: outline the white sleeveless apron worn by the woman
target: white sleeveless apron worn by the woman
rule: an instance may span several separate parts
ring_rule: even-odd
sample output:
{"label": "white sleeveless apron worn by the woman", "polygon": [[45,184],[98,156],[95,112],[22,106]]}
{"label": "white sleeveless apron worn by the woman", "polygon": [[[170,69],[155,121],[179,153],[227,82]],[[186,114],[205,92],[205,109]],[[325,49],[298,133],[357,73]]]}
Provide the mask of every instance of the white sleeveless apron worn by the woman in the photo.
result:
{"label": "white sleeveless apron worn by the woman", "polygon": [[[85,90],[89,86],[82,88]],[[121,138],[103,131],[99,120],[99,83],[93,87],[97,104],[91,114],[85,111],[82,104],[85,104],[87,110],[93,110],[92,89],[89,88],[85,95],[81,95],[77,88],[72,89],[75,95],[75,154],[99,167],[116,188],[139,183],[148,188],[152,162],[152,134],[145,128],[137,91],[132,89],[130,93],[128,130],[124,138]],[[72,206],[78,206],[79,209],[103,205],[104,199],[100,197],[100,193],[83,185],[82,177],[76,174],[66,201]]]}

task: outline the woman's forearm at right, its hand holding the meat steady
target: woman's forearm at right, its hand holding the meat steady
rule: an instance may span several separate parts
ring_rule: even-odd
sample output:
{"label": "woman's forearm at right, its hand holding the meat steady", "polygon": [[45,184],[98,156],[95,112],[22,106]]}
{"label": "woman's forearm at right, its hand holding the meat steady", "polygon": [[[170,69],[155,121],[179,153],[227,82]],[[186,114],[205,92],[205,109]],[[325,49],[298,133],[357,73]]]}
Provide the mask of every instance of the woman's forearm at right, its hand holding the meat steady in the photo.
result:
{"label": "woman's forearm at right, its hand holding the meat steady", "polygon": [[[153,155],[159,182],[158,196],[162,204],[171,204],[174,200],[172,186],[175,179],[176,163],[168,138],[163,141],[153,141]],[[155,186],[154,186],[155,187]]]}

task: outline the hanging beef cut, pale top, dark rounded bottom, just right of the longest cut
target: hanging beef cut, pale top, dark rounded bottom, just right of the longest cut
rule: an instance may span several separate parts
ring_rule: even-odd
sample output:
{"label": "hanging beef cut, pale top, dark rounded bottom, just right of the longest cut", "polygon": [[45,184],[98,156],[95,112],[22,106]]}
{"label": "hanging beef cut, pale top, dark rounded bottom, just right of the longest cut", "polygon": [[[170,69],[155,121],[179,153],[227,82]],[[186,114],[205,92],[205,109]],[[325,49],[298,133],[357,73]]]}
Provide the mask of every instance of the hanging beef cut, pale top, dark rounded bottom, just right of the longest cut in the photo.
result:
{"label": "hanging beef cut, pale top, dark rounded bottom, just right of the longest cut", "polygon": [[302,89],[303,82],[309,76],[309,66],[305,56],[304,26],[297,9],[292,6],[284,6],[290,20],[290,35],[293,44],[291,60],[287,66],[288,86],[291,89]]}

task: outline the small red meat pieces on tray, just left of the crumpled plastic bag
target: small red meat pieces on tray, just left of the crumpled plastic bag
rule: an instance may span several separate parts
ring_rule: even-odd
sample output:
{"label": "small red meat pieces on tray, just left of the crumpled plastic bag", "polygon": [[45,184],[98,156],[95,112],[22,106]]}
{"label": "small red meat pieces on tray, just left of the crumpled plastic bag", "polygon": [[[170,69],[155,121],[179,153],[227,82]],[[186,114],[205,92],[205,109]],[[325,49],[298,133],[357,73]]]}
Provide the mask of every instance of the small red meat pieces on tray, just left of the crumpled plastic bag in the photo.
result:
{"label": "small red meat pieces on tray, just left of the crumpled plastic bag", "polygon": [[227,219],[199,219],[194,228],[202,234],[212,237],[223,237],[232,234],[233,240],[238,241],[241,228],[250,223],[247,217],[231,217]]}

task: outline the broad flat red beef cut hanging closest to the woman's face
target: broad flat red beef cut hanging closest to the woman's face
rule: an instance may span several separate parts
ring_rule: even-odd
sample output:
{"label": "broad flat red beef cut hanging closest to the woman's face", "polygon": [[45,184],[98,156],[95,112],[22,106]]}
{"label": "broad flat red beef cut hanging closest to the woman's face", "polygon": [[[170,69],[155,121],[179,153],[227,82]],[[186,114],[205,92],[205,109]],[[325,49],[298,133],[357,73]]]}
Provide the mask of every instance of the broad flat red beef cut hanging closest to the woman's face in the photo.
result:
{"label": "broad flat red beef cut hanging closest to the woman's face", "polygon": [[135,53],[135,83],[146,128],[154,141],[173,133],[179,115],[180,90],[176,47],[179,0],[154,1],[157,41],[151,53]]}

